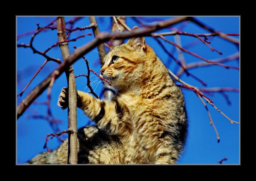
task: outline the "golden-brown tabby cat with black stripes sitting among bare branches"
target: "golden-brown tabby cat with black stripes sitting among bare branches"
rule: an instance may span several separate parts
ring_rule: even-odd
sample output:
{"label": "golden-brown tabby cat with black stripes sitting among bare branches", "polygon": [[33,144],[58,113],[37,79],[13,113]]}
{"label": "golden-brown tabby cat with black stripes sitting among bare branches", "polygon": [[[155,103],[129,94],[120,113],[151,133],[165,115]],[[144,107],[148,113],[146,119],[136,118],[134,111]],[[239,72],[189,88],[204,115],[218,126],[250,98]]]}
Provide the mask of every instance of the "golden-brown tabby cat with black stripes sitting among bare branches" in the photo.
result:
{"label": "golden-brown tabby cat with black stripes sitting among bare branches", "polygon": [[[175,164],[187,135],[184,97],[145,38],[113,47],[100,76],[118,92],[107,101],[77,91],[77,106],[96,123],[78,130],[78,164]],[[67,108],[67,88],[58,105]],[[65,140],[28,163],[66,164],[67,153]]]}

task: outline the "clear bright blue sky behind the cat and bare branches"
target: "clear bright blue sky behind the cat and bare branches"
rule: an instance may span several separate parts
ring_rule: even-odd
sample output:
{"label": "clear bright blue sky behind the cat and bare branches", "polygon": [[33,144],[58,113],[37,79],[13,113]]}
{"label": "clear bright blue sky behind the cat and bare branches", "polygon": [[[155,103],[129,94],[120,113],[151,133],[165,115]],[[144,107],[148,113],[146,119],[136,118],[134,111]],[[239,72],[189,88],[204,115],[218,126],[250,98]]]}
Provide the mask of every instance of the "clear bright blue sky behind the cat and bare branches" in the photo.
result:
{"label": "clear bright blue sky behind the cat and bare branches", "polygon": [[[65,20],[69,20],[73,17],[65,17]],[[172,17],[154,17],[157,19],[169,19]],[[224,33],[240,33],[239,32],[239,17],[196,17],[198,20],[204,22],[208,26],[220,30]],[[109,32],[110,31],[110,17],[96,17],[100,31]],[[40,26],[46,26],[49,22],[54,20],[54,17],[17,17],[17,34],[23,34],[37,28],[36,23],[40,23]],[[142,18],[145,23],[152,21],[152,17]],[[84,17],[74,24],[75,27],[82,27],[90,25],[88,17]],[[138,23],[134,22],[131,17],[127,17],[127,25],[132,28]],[[180,24],[174,27],[178,27]],[[67,28],[69,28],[67,26]],[[168,32],[171,30],[165,29],[158,32]],[[70,38],[76,38],[82,34],[92,32],[92,30],[76,31],[70,35]],[[190,33],[209,33],[206,30],[196,26],[193,23],[189,23],[182,32]],[[31,35],[22,37],[18,39],[17,43],[28,44],[30,41]],[[73,46],[80,47],[87,42],[91,41],[94,36],[86,36],[80,38],[75,42],[69,42],[70,52],[74,52]],[[174,36],[166,36],[166,38],[174,42]],[[195,37],[190,36],[180,36],[182,46],[186,46],[191,42],[196,40]],[[235,36],[234,38],[239,38]],[[58,42],[58,37],[56,30],[48,30],[38,34],[34,40],[34,47],[36,49],[43,51],[46,50],[52,44]],[[146,42],[149,44],[156,52],[158,57],[170,68],[170,70],[176,72],[178,66],[176,63],[168,58],[168,55],[162,50],[162,48],[157,44],[157,42],[151,38],[146,37]],[[207,58],[208,60],[214,60],[217,58],[222,58],[230,56],[238,52],[238,49],[234,44],[227,42],[219,37],[214,37],[210,40],[211,46],[220,52],[222,55],[219,55],[217,52],[212,52],[205,44],[197,44],[196,46],[189,48],[188,50],[199,54],[200,56]],[[167,50],[172,51],[173,46],[162,41]],[[48,52],[49,56],[54,58],[60,58],[61,52],[58,46],[53,48]],[[177,51],[175,50],[173,54],[178,58]],[[184,53],[184,59],[188,63],[192,62],[202,62],[202,60]],[[99,73],[100,65],[98,62],[98,52],[97,48],[85,55],[89,61],[90,68]],[[28,48],[17,48],[17,93],[23,90],[29,80],[32,78],[34,73],[40,68],[40,66],[45,61],[45,58],[33,54],[32,50]],[[231,61],[225,63],[228,66],[239,66],[239,61]],[[33,80],[32,84],[27,88],[22,97],[17,97],[17,103],[19,104],[26,95],[39,83],[41,82],[52,70],[54,70],[58,64],[55,62],[48,62],[38,76]],[[78,60],[74,65],[75,75],[78,74],[87,74],[86,64],[83,59]],[[226,69],[219,66],[209,66],[204,68],[192,69],[190,72],[196,75],[198,78],[202,79],[207,83],[207,88],[213,87],[231,87],[239,88],[239,71],[234,69]],[[198,86],[203,88],[203,86],[190,76],[183,74],[180,77],[182,80],[187,82],[190,85]],[[99,79],[91,74],[92,87],[95,92],[100,95],[102,90],[102,84],[98,81]],[[95,80],[95,84],[93,81]],[[88,92],[86,88],[86,78],[79,77],[76,78],[76,85],[78,90]],[[56,80],[52,87],[52,99],[51,99],[51,110],[52,114],[56,119],[62,120],[62,123],[59,124],[60,130],[67,129],[67,110],[62,111],[60,107],[57,106],[58,95],[63,87],[66,87],[66,77],[64,74]],[[222,114],[220,114],[216,109],[214,109],[210,104],[208,109],[211,113],[212,119],[216,125],[218,133],[220,135],[220,143],[217,143],[216,134],[212,126],[210,126],[210,120],[206,109],[204,108],[200,99],[196,96],[193,91],[182,89],[185,101],[186,109],[188,113],[188,139],[184,153],[181,155],[179,164],[218,164],[218,161],[227,157],[228,160],[224,161],[223,164],[239,164],[240,157],[240,131],[239,125],[231,125],[228,119],[226,119]],[[239,122],[239,93],[237,92],[228,92],[231,105],[228,105],[223,95],[220,93],[214,93],[214,96],[209,96],[213,99],[214,104],[223,111],[230,119]],[[46,101],[46,91],[42,93],[36,101]],[[46,115],[46,106],[45,105],[34,105],[32,104],[26,112],[18,119],[17,121],[17,163],[25,163],[27,160],[34,157],[36,154],[46,151],[43,149],[45,136],[48,133],[53,133],[49,123],[44,119],[26,119],[27,115]],[[78,128],[85,125],[94,124],[90,121],[84,113],[78,109],[77,112],[78,119]],[[48,141],[48,147],[50,149],[56,149],[60,142],[57,138],[53,138]]]}

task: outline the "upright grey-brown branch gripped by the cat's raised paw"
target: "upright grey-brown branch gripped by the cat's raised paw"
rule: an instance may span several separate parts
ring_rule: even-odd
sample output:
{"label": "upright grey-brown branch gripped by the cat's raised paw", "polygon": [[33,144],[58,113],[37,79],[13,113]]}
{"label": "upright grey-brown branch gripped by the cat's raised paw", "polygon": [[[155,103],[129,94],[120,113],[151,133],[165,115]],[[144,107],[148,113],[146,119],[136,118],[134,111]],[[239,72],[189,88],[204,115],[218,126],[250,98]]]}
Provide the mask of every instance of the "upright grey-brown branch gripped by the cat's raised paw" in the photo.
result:
{"label": "upright grey-brown branch gripped by the cat's raised paw", "polygon": [[[57,17],[57,34],[60,43],[60,50],[63,60],[70,56],[68,42],[66,38],[66,28],[64,17]],[[73,66],[65,71],[68,81],[68,164],[77,164],[77,122],[76,122],[76,81],[74,76]]]}

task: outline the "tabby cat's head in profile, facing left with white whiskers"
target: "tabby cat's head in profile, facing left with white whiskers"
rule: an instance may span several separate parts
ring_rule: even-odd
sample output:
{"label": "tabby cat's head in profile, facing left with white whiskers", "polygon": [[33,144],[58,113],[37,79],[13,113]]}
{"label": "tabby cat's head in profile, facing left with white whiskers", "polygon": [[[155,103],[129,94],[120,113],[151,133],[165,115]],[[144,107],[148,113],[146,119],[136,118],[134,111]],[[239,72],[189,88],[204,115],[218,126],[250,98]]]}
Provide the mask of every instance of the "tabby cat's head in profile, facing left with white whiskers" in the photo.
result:
{"label": "tabby cat's head in profile, facing left with white whiskers", "polygon": [[[137,28],[134,26],[132,30]],[[145,73],[144,64],[151,51],[144,37],[130,38],[125,44],[115,46],[108,52],[100,74],[117,88],[136,84]]]}

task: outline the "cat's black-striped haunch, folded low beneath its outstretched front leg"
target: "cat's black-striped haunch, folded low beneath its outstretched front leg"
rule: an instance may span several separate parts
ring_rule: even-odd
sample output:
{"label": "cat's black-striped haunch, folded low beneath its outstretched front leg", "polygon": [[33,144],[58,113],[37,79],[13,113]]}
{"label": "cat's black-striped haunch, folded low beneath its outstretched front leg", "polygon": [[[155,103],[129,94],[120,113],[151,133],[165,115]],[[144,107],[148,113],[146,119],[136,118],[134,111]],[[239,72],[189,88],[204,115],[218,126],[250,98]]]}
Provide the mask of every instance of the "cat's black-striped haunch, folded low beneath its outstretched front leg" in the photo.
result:
{"label": "cat's black-striped haunch, folded low beneath its outstretched front leg", "polygon": [[[66,163],[68,141],[57,150],[59,163]],[[116,135],[109,135],[97,125],[78,129],[78,164],[120,164],[123,145]]]}

